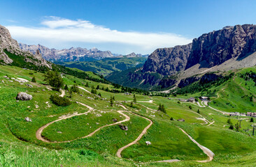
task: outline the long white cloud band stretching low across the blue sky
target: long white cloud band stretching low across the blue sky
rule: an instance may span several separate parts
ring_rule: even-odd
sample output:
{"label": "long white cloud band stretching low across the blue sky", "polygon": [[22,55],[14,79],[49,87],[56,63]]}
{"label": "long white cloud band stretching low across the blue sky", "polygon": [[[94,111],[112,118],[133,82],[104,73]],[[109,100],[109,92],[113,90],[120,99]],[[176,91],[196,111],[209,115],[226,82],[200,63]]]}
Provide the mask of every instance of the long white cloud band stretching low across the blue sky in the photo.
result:
{"label": "long white cloud band stretching low across the blue sky", "polygon": [[[47,17],[41,22],[40,27],[6,26],[6,28],[16,39],[41,41],[43,43],[50,42],[58,46],[63,43],[72,46],[72,43],[78,42],[97,45],[116,43],[121,44],[123,47],[126,45],[129,45],[130,48],[132,48],[131,46],[139,47],[141,48],[141,53],[145,51],[150,53],[159,47],[173,47],[192,42],[192,39],[173,33],[117,31],[94,25],[83,19],[71,20],[60,17]],[[43,43],[41,44],[44,45]]]}

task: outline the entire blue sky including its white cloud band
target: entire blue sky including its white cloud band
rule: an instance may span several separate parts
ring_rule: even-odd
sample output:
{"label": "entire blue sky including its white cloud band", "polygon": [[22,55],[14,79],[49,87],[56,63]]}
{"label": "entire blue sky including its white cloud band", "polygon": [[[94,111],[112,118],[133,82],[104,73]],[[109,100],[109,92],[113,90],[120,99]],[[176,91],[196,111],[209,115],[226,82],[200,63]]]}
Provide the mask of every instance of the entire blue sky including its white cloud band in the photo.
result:
{"label": "entire blue sky including its white cloud band", "polygon": [[253,0],[8,0],[0,6],[0,24],[18,42],[118,54],[150,54],[224,26],[256,23]]}

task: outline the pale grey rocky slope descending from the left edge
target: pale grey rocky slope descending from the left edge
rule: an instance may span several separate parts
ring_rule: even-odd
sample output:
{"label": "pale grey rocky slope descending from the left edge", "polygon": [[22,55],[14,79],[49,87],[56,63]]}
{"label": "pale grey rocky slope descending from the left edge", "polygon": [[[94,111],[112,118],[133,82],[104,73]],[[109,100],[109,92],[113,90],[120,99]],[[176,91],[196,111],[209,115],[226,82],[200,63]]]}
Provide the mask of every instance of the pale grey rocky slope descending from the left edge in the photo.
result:
{"label": "pale grey rocky slope descending from the left edge", "polygon": [[10,35],[8,29],[0,25],[0,60],[5,64],[13,63],[13,60],[6,54],[8,51],[10,54],[24,57],[24,61],[34,63],[37,66],[45,66],[51,68],[50,63],[45,61],[41,54],[36,55],[29,53],[28,51],[22,51],[16,40]]}

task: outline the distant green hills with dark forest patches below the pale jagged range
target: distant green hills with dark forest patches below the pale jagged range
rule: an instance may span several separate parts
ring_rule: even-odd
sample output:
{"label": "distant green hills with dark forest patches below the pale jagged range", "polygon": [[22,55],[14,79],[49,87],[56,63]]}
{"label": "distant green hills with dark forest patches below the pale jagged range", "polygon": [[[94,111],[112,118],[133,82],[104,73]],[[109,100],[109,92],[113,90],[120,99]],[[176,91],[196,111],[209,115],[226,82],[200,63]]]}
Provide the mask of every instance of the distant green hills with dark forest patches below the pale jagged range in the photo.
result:
{"label": "distant green hills with dark forest patches below the pale jagged range", "polygon": [[99,61],[55,62],[66,67],[75,67],[83,71],[91,71],[106,76],[111,72],[127,70],[131,67],[141,67],[147,58],[104,58]]}

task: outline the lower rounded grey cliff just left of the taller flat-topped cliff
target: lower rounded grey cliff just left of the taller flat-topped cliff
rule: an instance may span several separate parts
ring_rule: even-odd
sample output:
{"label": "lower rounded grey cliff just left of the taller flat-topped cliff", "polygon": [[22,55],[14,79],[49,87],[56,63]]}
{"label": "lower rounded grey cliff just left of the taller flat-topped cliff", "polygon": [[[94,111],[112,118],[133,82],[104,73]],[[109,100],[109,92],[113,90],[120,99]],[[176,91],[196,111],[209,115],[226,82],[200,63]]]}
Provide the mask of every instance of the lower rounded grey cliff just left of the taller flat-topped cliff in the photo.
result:
{"label": "lower rounded grey cliff just left of the taller flat-topped cliff", "polygon": [[143,72],[173,75],[185,70],[192,44],[156,49],[143,65]]}

